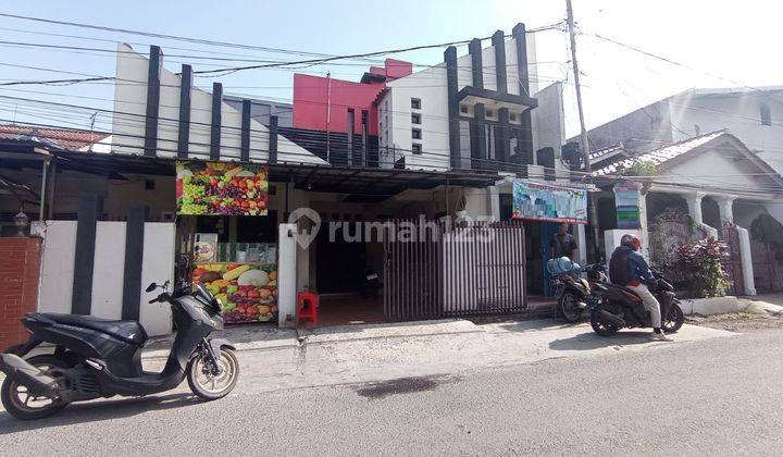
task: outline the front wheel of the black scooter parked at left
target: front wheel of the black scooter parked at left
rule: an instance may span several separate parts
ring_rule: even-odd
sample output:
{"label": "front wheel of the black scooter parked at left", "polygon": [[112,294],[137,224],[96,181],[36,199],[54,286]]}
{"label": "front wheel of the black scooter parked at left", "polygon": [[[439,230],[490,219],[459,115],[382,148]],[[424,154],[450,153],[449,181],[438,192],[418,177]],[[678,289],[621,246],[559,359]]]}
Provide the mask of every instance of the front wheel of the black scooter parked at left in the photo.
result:
{"label": "front wheel of the black scooter parked at left", "polygon": [[190,391],[204,400],[214,400],[228,395],[239,379],[239,360],[233,350],[221,348],[217,365],[221,373],[212,374],[203,355],[199,354],[188,363],[187,378]]}

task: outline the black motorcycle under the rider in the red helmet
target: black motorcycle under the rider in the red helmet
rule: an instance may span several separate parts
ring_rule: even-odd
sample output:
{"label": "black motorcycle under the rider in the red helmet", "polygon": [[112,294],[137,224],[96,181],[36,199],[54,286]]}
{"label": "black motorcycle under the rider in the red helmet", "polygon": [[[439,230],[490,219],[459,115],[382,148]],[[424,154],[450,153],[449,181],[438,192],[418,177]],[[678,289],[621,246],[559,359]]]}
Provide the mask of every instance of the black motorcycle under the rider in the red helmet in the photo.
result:
{"label": "black motorcycle under the rider in the red helmet", "polygon": [[[650,293],[661,307],[661,329],[666,333],[675,333],[685,321],[680,299],[674,287],[661,272],[652,269],[656,281],[648,284]],[[607,282],[596,283],[588,296],[591,326],[600,336],[611,336],[620,329],[652,328],[649,312],[644,308],[642,298],[632,289]]]}

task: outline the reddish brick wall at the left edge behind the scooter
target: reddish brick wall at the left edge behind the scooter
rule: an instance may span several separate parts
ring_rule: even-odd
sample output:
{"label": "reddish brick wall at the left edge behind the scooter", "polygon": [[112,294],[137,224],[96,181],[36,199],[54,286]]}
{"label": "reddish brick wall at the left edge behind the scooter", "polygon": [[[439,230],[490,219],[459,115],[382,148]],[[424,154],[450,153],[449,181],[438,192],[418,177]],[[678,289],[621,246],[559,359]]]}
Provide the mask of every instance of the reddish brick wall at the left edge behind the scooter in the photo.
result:
{"label": "reddish brick wall at the left edge behind the scooter", "polygon": [[36,310],[40,238],[0,238],[0,350],[27,339],[20,319]]}

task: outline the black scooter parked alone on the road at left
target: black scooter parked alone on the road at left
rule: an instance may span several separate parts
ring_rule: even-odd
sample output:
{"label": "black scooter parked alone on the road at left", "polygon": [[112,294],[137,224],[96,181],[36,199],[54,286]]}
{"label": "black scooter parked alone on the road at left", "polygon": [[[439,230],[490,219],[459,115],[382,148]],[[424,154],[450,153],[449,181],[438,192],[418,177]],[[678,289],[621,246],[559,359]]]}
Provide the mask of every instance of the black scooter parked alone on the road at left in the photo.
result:
{"label": "black scooter parked alone on the road at left", "polygon": [[[202,399],[226,396],[236,385],[239,362],[227,341],[209,338],[223,330],[220,301],[200,285],[192,293],[181,289],[172,296],[166,281],[150,284],[147,292],[156,288],[163,293],[150,304],[171,304],[176,328],[162,372],[141,369],[147,333],[136,321],[34,312],[22,319],[30,332],[27,343],[0,355],[5,410],[18,419],[40,419],[72,402],[169,391],[186,376]],[[54,346],[54,354],[22,358],[45,342]]]}

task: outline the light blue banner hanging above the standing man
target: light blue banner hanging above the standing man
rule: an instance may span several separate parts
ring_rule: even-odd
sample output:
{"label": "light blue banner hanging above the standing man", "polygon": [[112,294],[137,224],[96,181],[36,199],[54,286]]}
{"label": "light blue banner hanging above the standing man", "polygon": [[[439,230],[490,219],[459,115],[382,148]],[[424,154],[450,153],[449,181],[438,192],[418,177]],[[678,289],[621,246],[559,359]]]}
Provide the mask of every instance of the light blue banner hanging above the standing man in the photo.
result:
{"label": "light blue banner hanging above the standing man", "polygon": [[587,190],[515,180],[511,218],[586,224]]}

